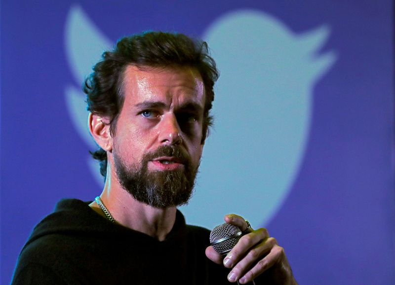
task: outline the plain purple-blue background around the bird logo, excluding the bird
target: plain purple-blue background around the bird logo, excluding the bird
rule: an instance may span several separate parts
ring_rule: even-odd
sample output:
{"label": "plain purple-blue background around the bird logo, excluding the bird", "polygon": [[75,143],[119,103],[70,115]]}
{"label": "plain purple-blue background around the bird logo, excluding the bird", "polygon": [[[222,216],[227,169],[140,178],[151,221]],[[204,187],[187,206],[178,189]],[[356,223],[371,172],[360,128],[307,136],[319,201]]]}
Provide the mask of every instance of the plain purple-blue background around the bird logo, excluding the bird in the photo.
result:
{"label": "plain purple-blue background around the bird logo, excluding the bird", "polygon": [[[64,23],[74,1],[1,2],[1,284],[34,225],[63,197],[101,189],[65,107],[74,84]],[[143,30],[201,35],[254,8],[294,32],[325,23],[338,59],[314,90],[298,177],[267,226],[300,284],[395,284],[394,3],[378,1],[79,1],[114,42]]]}

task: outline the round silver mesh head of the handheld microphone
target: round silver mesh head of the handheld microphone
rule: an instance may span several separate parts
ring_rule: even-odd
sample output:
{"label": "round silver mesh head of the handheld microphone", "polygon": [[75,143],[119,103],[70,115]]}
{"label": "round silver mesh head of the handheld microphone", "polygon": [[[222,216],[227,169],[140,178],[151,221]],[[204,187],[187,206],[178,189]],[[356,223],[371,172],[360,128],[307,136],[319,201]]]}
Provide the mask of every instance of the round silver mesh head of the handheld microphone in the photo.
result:
{"label": "round silver mesh head of the handheld microphone", "polygon": [[[237,235],[236,237],[233,237],[233,235]],[[213,249],[215,251],[225,254],[231,249],[233,249],[234,246],[236,246],[238,240],[241,237],[241,230],[234,225],[228,224],[228,223],[223,223],[222,225],[216,226],[213,228],[213,230],[210,233],[210,243],[215,243],[216,241],[219,241],[224,238],[228,238],[222,242],[219,242],[217,244],[212,244]]]}

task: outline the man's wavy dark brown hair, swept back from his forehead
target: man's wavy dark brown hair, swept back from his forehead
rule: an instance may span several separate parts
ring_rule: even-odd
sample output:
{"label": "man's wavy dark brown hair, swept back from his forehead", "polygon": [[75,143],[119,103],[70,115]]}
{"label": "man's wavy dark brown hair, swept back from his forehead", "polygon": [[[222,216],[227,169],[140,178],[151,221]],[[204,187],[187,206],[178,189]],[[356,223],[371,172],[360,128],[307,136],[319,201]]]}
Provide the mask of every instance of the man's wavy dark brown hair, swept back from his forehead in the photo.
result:
{"label": "man's wavy dark brown hair, swept back from his forehead", "polygon": [[[179,33],[145,32],[123,37],[113,50],[104,52],[102,60],[86,78],[83,91],[87,95],[88,111],[110,119],[111,134],[115,132],[118,114],[123,106],[122,75],[128,65],[141,68],[191,67],[199,71],[206,96],[203,143],[212,125],[209,111],[214,101],[214,83],[219,76],[207,43]],[[100,161],[100,173],[106,177],[106,151],[99,148],[90,153]]]}

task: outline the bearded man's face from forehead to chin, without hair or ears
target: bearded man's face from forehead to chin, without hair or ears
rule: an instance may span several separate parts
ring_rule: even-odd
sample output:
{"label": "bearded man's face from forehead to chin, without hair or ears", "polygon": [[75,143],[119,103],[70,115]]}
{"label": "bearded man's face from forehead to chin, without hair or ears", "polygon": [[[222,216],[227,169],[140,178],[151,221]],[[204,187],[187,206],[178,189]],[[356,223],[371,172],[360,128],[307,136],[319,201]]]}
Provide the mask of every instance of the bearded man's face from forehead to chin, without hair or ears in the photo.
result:
{"label": "bearded man's face from forehead to chin, without hair or ears", "polygon": [[189,200],[203,148],[203,86],[190,68],[126,68],[113,161],[138,201],[166,208]]}

